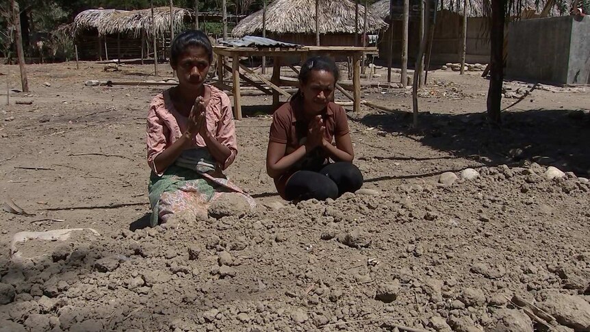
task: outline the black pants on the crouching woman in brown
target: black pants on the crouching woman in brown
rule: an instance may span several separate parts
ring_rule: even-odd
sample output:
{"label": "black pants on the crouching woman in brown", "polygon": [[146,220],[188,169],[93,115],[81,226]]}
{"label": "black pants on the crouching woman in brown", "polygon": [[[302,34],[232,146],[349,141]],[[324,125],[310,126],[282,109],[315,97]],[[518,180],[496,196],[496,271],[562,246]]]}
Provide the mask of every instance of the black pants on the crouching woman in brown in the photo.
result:
{"label": "black pants on the crouching woman in brown", "polygon": [[345,192],[355,192],[363,186],[363,175],[349,162],[335,162],[319,172],[300,170],[292,175],[285,186],[287,201],[337,199]]}

